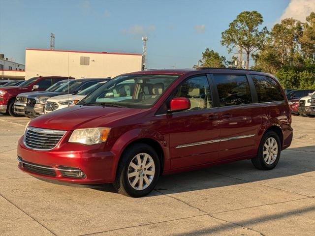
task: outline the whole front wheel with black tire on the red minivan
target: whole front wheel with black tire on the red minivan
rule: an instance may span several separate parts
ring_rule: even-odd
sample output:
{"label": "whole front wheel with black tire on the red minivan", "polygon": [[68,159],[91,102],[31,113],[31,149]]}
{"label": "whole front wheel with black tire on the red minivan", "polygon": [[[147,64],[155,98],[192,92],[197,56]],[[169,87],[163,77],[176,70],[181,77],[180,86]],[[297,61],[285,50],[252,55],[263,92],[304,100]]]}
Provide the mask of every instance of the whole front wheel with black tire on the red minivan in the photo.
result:
{"label": "whole front wheel with black tire on the red minivan", "polygon": [[[140,157],[140,164],[138,157]],[[149,168],[144,168],[144,159],[146,159],[146,166],[151,165]],[[160,160],[155,149],[144,143],[134,144],[123,152],[113,185],[120,194],[135,198],[143,197],[154,189],[159,173]]]}

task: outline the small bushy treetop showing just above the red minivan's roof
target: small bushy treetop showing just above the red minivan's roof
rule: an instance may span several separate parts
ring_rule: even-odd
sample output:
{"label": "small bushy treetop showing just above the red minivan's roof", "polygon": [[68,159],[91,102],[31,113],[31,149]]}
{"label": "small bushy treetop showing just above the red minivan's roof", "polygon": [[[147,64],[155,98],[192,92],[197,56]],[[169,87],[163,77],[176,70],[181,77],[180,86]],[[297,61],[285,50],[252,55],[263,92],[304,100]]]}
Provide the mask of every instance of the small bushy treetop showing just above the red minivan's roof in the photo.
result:
{"label": "small bushy treetop showing just above the red minivan's roof", "polygon": [[[226,67],[227,61],[225,57],[220,56],[219,53],[206,48],[202,53],[202,59],[199,60],[199,67]],[[193,68],[198,68],[198,65],[194,65]]]}

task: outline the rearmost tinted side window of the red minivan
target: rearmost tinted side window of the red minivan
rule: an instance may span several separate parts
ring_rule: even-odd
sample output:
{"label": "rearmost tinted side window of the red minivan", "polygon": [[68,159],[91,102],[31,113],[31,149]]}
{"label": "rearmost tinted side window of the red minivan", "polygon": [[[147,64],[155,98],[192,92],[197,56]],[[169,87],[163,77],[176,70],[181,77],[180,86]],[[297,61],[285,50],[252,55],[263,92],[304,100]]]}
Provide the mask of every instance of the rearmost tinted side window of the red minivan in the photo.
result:
{"label": "rearmost tinted side window of the red minivan", "polygon": [[279,85],[273,79],[267,76],[252,75],[252,81],[256,88],[258,102],[275,102],[284,100],[284,96]]}

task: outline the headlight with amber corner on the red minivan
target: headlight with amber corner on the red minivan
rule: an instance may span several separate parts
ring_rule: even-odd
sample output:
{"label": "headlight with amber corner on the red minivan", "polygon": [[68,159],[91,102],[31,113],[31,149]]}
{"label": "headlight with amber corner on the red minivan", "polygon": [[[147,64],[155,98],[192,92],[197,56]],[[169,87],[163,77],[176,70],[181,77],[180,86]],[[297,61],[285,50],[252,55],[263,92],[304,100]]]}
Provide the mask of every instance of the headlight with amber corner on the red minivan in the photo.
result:
{"label": "headlight with amber corner on the red minivan", "polygon": [[107,140],[110,128],[76,129],[71,134],[69,143],[93,145]]}

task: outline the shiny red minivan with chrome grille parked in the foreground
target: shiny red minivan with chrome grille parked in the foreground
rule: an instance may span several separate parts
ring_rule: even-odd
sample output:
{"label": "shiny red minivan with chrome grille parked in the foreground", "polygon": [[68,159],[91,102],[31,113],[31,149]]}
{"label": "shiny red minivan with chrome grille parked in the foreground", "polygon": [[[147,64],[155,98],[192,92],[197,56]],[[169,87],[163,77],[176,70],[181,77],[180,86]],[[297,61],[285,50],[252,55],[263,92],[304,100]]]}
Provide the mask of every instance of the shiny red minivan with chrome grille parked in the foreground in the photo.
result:
{"label": "shiny red minivan with chrome grille parked in the foreground", "polygon": [[141,197],[160,175],[243,159],[271,170],[292,135],[287,98],[270,74],[140,71],[33,119],[19,140],[18,167],[50,181],[113,183]]}

